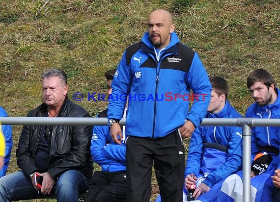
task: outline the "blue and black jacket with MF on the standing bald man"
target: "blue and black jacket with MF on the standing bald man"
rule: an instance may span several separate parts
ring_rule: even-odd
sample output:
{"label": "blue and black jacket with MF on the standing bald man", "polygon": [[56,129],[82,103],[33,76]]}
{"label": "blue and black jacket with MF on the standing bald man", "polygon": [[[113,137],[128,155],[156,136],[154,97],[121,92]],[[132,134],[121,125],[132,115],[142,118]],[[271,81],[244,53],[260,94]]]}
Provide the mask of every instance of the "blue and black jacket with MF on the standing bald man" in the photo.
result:
{"label": "blue and black jacket with MF on the standing bald man", "polygon": [[[122,118],[128,95],[126,134],[164,137],[186,119],[199,126],[204,118],[212,86],[197,53],[179,42],[172,32],[169,45],[157,50],[146,32],[124,52],[112,81],[108,119]],[[190,89],[196,99],[188,113]]]}

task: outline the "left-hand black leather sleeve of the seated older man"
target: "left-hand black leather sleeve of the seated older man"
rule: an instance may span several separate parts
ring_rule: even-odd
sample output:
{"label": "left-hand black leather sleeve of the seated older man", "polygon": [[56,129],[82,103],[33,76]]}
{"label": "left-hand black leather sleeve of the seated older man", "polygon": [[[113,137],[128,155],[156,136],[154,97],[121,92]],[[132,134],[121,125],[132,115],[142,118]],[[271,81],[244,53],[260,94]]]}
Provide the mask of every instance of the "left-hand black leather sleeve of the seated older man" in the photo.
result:
{"label": "left-hand black leather sleeve of the seated older man", "polygon": [[[30,112],[31,111],[28,113],[28,117],[30,117]],[[31,126],[23,126],[18,148],[16,150],[18,167],[23,170],[26,177],[29,177],[30,174],[39,170],[35,165],[32,153],[29,150],[30,140],[33,135],[31,132],[33,133]]]}

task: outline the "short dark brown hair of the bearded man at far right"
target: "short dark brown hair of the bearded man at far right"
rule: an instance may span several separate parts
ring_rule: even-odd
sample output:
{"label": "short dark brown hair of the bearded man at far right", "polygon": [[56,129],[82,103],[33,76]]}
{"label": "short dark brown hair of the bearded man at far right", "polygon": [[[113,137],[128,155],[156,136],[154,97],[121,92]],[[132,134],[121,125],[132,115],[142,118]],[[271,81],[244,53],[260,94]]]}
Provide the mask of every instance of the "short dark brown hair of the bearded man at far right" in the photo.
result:
{"label": "short dark brown hair of the bearded man at far right", "polygon": [[263,82],[267,89],[269,89],[272,83],[275,86],[275,81],[272,75],[265,69],[257,69],[250,73],[250,75],[247,77],[248,89],[251,88],[255,82]]}

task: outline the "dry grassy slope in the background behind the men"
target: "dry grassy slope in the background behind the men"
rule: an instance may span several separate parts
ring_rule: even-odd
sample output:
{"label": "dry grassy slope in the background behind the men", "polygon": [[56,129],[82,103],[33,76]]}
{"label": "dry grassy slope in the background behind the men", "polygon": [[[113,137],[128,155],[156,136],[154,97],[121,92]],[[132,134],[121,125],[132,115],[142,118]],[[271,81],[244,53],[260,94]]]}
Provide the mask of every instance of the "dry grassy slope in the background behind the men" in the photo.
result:
{"label": "dry grassy slope in the background behind the men", "polygon": [[[0,105],[10,116],[26,116],[41,102],[41,74],[57,67],[74,92],[106,92],[104,72],[115,68],[126,47],[147,30],[148,13],[164,8],[174,16],[183,43],[201,57],[210,76],[224,76],[230,102],[244,114],[252,99],[246,77],[256,68],[276,82],[280,64],[280,3],[277,0],[198,0],[176,8],[168,0],[50,1],[37,20],[41,0],[0,1]],[[77,102],[94,116],[106,102]],[[9,172],[22,126],[13,126]]]}

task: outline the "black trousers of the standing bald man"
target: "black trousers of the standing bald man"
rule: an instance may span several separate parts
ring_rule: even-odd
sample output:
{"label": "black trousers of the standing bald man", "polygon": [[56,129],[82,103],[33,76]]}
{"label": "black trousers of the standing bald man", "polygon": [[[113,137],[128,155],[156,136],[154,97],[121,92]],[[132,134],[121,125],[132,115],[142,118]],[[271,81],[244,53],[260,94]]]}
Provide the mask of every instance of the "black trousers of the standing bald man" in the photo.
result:
{"label": "black trousers of the standing bald man", "polygon": [[185,149],[178,130],[159,139],[128,137],[126,202],[150,201],[153,162],[162,202],[182,202]]}

